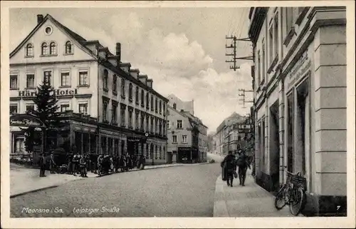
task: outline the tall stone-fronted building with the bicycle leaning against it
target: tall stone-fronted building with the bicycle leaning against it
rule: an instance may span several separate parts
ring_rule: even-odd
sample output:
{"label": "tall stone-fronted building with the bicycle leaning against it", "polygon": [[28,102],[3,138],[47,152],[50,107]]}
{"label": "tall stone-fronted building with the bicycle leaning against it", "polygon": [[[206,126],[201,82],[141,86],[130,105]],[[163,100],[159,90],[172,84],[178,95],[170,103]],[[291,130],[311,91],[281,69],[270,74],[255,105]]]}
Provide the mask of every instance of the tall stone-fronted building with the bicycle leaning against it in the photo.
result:
{"label": "tall stone-fronted building with the bicycle leaning against it", "polygon": [[300,172],[309,213],[345,213],[346,8],[253,7],[249,19],[256,182],[276,191]]}

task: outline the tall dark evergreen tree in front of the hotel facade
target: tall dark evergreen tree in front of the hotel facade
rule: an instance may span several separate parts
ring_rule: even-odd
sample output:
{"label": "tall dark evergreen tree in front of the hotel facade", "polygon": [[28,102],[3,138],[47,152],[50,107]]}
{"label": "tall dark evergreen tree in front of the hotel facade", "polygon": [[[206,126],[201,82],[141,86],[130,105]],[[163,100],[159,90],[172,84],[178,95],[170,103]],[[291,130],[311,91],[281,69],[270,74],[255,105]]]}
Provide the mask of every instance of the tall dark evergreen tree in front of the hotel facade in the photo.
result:
{"label": "tall dark evergreen tree in front of the hotel facade", "polygon": [[[35,116],[41,120],[46,126],[46,149],[47,150],[53,141],[57,138],[57,128],[61,126],[59,119],[60,113],[58,111],[58,99],[54,88],[43,81],[41,85],[37,87],[37,93],[33,102],[36,105],[36,109],[27,111],[28,114]],[[36,131],[34,128],[26,128],[25,131],[26,141],[25,146],[27,151],[33,150],[33,145],[40,145],[42,142],[42,132]]]}

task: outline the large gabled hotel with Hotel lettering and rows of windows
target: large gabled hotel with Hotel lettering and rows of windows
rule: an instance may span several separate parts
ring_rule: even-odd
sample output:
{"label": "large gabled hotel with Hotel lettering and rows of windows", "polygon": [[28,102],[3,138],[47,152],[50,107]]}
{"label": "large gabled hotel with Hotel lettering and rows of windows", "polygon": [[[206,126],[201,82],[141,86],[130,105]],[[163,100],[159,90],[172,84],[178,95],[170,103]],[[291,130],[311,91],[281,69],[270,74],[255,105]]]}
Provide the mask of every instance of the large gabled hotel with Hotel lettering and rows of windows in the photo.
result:
{"label": "large gabled hotel with Hotel lettering and rows of windows", "polygon": [[[164,163],[168,99],[154,90],[152,79],[121,62],[120,43],[114,55],[48,14],[37,19],[10,54],[10,113],[33,107],[36,86],[46,79],[70,121],[57,147],[79,153],[143,153]],[[11,153],[24,151],[23,139],[23,131],[12,126]]]}

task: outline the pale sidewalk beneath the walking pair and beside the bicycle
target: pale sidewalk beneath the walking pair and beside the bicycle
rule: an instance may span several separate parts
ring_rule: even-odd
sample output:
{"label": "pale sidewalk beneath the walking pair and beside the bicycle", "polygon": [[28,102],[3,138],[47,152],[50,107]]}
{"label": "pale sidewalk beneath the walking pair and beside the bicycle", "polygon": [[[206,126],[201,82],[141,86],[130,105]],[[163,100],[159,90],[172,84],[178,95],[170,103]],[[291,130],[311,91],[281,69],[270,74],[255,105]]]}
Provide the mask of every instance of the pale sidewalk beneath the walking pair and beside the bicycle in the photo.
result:
{"label": "pale sidewalk beneath the walking pair and beside the bicycle", "polygon": [[[229,187],[221,175],[216,180],[214,197],[214,217],[295,217],[286,205],[281,210],[274,207],[274,196],[258,186],[247,171],[245,186],[234,179],[234,187]],[[303,215],[298,215],[303,217]]]}

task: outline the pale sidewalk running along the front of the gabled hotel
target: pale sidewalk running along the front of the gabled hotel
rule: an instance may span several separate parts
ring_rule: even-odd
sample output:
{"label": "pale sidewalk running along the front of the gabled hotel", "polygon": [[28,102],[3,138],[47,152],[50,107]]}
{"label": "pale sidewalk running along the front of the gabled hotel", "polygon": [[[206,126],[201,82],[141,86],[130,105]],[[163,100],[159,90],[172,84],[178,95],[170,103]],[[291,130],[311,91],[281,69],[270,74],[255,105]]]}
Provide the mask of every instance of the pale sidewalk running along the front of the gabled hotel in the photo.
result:
{"label": "pale sidewalk running along the front of the gabled hotel", "polygon": [[[205,163],[197,163],[193,165],[201,165]],[[174,164],[164,164],[157,166],[145,166],[145,170],[155,169],[155,168],[167,168],[174,166],[186,166],[186,164],[174,163]],[[131,171],[139,171],[139,169],[134,168]],[[88,178],[98,178],[105,175],[99,176],[95,173],[88,173],[88,178],[82,178],[80,175],[68,175],[68,174],[51,174],[50,171],[46,171],[46,177],[39,177],[39,169],[36,168],[26,168],[23,166],[10,163],[10,198],[14,198],[18,195],[24,195],[26,193],[33,193],[38,190],[45,190],[48,188],[55,188],[59,185],[63,185],[72,180],[82,180]],[[127,172],[125,172],[127,173]],[[109,173],[111,175],[115,173]]]}

